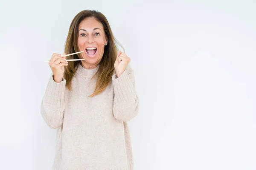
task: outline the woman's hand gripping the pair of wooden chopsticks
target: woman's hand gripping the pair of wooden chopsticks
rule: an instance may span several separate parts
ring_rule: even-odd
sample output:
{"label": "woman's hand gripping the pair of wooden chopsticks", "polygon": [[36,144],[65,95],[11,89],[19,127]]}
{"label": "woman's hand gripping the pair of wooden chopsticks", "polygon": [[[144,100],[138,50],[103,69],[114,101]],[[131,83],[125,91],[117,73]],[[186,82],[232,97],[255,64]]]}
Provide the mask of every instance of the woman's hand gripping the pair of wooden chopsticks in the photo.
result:
{"label": "woman's hand gripping the pair of wooden chopsticks", "polygon": [[[66,55],[65,53],[63,55]],[[52,58],[49,61],[49,66],[52,69],[53,79],[55,82],[61,82],[64,76],[64,66],[67,66],[68,62],[66,57],[62,57],[61,54],[52,54]]]}

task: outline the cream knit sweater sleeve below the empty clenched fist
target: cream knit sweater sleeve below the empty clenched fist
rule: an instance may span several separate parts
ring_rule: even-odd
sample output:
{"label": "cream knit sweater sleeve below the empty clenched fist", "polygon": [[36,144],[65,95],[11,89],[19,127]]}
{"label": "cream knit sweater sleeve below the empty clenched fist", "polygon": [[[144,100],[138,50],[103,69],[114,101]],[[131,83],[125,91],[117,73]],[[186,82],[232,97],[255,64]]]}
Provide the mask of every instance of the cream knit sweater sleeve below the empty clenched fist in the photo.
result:
{"label": "cream knit sweater sleeve below the empty clenched fist", "polygon": [[116,77],[112,76],[114,88],[113,115],[117,120],[128,122],[139,112],[139,98],[135,91],[134,72],[128,65],[127,69]]}

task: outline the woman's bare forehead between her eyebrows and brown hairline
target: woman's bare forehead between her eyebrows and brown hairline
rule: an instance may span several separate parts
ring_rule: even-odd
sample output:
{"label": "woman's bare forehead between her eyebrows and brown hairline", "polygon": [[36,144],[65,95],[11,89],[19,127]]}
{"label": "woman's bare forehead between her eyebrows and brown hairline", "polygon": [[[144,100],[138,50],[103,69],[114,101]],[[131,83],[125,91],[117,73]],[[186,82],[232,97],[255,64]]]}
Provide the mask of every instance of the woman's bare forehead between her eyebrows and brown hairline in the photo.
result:
{"label": "woman's bare forehead between her eyebrows and brown hairline", "polygon": [[103,30],[102,23],[95,20],[94,18],[86,18],[79,23],[79,29],[85,29],[87,31],[93,30],[93,28],[100,28]]}

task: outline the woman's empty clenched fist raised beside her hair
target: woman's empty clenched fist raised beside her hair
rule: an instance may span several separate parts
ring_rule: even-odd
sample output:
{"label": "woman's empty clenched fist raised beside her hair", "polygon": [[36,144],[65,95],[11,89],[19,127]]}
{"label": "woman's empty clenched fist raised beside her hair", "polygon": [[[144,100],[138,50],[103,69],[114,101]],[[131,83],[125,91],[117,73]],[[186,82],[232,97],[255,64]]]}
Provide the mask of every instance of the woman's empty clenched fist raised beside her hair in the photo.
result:
{"label": "woman's empty clenched fist raised beside her hair", "polygon": [[114,64],[117,78],[125,71],[130,61],[131,59],[125,53],[122,53],[122,51],[117,53],[116,62]]}

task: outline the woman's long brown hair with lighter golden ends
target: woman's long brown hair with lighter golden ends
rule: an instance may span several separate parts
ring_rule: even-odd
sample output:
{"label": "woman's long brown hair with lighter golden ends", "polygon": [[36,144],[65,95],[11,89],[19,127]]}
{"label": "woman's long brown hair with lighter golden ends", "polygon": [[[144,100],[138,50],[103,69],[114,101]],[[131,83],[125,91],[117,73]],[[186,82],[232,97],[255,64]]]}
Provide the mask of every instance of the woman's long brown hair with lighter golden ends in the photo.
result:
{"label": "woman's long brown hair with lighter golden ends", "polygon": [[[99,63],[97,63],[99,65],[99,69],[97,70],[96,74],[94,74],[94,76],[92,77],[97,79],[95,90],[93,94],[90,95],[90,97],[92,97],[102,93],[102,91],[104,91],[105,88],[107,88],[108,84],[111,82],[111,77],[115,69],[114,63],[116,61],[116,55],[118,50],[116,44],[118,44],[120,47],[122,47],[122,45],[113,36],[108,20],[102,13],[95,10],[84,10],[79,12],[74,17],[74,19],[70,24],[67,40],[65,42],[65,49],[64,49],[66,54],[79,52],[79,48],[78,48],[79,24],[81,23],[82,20],[88,17],[94,18],[97,21],[99,21],[99,23],[102,23],[106,39],[108,40],[108,45],[105,45],[102,59],[100,60]],[[122,49],[124,50],[123,47]],[[81,54],[75,54],[75,55],[69,56],[68,59],[82,59],[82,57],[81,57]],[[74,61],[74,62],[69,62],[69,64],[65,66],[64,79],[66,79],[66,87],[69,90],[72,90],[71,80],[75,76],[75,73],[77,71],[79,64],[81,64],[81,61]]]}

